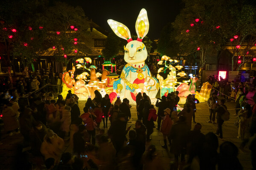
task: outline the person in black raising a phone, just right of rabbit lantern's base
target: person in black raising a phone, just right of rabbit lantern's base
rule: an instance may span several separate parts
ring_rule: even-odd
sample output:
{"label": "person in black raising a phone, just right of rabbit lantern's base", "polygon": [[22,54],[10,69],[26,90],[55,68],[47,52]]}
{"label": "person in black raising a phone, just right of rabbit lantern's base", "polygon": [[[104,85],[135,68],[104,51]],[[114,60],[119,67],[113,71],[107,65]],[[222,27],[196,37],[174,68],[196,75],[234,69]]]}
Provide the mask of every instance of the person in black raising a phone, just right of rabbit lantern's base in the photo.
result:
{"label": "person in black raising a phone, just right of rabbit lantern's base", "polygon": [[165,109],[168,108],[168,102],[166,101],[165,95],[162,96],[162,101],[159,102],[159,99],[156,101],[157,111],[157,130],[160,130],[162,117],[165,117]]}

